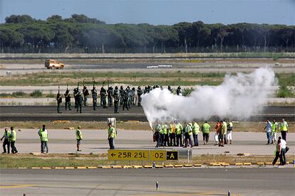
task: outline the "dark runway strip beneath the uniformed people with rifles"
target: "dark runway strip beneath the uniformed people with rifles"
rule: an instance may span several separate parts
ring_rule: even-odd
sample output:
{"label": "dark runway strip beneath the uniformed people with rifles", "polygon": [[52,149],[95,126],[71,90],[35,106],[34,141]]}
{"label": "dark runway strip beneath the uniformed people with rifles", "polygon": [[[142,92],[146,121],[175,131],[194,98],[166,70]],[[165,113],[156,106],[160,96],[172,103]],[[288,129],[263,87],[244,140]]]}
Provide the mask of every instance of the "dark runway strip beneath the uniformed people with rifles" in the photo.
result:
{"label": "dark runway strip beneath the uniformed people with rifles", "polygon": [[[113,107],[108,107],[108,109],[98,107],[96,111],[93,111],[93,108],[90,106],[83,107],[83,114],[77,114],[76,109],[73,107],[71,111],[66,111],[64,106],[61,109],[63,114],[56,114],[56,106],[0,106],[0,121],[53,121],[57,119],[70,121],[105,121],[105,118],[109,117],[115,117],[119,121],[148,121],[143,108],[137,106],[125,111],[122,110],[122,107],[119,107],[119,114],[113,114]],[[266,118],[281,119],[281,117],[285,117],[286,121],[295,121],[295,107],[264,107],[262,112],[253,114],[250,119],[245,119],[244,121],[265,121]],[[216,121],[218,119],[217,116],[213,116],[208,120]]]}

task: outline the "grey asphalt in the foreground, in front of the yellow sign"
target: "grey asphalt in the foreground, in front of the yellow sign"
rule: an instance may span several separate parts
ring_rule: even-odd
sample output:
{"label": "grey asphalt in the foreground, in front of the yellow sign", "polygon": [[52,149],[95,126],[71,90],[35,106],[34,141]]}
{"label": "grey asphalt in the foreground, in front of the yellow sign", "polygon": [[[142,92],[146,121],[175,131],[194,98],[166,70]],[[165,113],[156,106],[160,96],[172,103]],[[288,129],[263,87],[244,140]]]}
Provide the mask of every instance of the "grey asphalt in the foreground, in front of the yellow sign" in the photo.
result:
{"label": "grey asphalt in the foreground, in front of the yellow sign", "polygon": [[[292,168],[1,169],[0,195],[294,195]],[[159,189],[155,184],[158,182]]]}

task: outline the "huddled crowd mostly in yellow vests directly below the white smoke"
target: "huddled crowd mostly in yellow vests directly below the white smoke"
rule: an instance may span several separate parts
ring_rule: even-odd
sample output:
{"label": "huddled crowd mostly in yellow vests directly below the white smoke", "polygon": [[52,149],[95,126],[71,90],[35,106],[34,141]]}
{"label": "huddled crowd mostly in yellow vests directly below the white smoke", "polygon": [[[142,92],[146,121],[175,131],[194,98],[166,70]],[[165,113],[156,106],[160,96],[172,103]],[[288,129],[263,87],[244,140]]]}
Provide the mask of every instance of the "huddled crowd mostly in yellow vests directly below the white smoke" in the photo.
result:
{"label": "huddled crowd mostly in yellow vests directly below the white smoke", "polygon": [[[215,129],[217,129],[215,138],[219,141],[219,146],[227,144],[228,139],[232,144],[232,122],[229,121],[227,124],[226,121],[218,121],[217,125],[218,126],[215,127]],[[156,148],[160,146],[180,146],[187,148],[189,145],[190,148],[192,148],[193,146],[199,146],[198,135],[200,131],[202,131],[203,143],[206,145],[209,141],[209,134],[211,131],[211,126],[207,121],[202,124],[201,130],[196,121],[192,121],[192,123],[185,122],[183,126],[177,121],[169,125],[161,122],[155,126],[153,140],[157,142]]]}

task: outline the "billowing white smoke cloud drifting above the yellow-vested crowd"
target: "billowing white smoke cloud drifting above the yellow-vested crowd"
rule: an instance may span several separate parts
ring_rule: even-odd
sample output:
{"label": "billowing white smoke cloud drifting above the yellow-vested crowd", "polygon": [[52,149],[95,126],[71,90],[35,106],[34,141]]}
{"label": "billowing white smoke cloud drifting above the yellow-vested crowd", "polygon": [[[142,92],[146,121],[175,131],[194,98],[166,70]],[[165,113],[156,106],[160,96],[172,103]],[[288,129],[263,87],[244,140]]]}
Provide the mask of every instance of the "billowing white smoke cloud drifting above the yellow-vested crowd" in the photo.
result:
{"label": "billowing white smoke cloud drifting above the yellow-vested crowd", "polygon": [[141,104],[150,126],[155,121],[206,120],[211,116],[247,119],[262,110],[268,97],[273,97],[276,84],[273,70],[259,68],[249,74],[226,75],[217,87],[197,87],[190,97],[153,89],[143,95]]}

